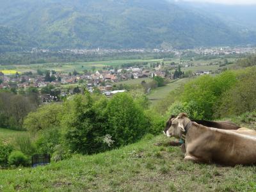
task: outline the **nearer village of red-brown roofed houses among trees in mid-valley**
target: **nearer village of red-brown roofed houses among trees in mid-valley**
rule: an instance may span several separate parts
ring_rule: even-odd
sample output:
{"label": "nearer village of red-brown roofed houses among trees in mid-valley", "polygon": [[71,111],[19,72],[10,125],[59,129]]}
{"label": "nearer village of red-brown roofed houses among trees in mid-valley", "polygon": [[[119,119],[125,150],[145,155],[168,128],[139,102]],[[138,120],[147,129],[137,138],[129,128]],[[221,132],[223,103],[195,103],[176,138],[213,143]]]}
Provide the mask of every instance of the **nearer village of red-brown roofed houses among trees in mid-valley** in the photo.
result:
{"label": "nearer village of red-brown roofed houses among trees in mid-valley", "polygon": [[[182,62],[164,64],[150,63],[147,65],[138,65],[132,67],[115,67],[107,70],[84,70],[83,72],[56,72],[54,70],[38,70],[36,73],[24,72],[16,74],[4,74],[0,71],[0,89],[10,90],[14,93],[27,92],[29,88],[35,88],[40,94],[42,102],[59,101],[68,95],[76,93],[88,92],[101,93],[108,97],[115,93],[125,92],[124,86],[116,86],[116,83],[125,81],[139,80],[138,84],[145,83],[145,79],[153,81],[154,77],[161,77],[168,81],[169,79],[177,79],[188,76],[200,76],[202,74],[210,74],[209,71],[189,72],[186,74],[181,71]],[[188,67],[188,65],[184,65]],[[151,86],[151,87],[150,87]],[[154,83],[147,90],[156,86]]]}

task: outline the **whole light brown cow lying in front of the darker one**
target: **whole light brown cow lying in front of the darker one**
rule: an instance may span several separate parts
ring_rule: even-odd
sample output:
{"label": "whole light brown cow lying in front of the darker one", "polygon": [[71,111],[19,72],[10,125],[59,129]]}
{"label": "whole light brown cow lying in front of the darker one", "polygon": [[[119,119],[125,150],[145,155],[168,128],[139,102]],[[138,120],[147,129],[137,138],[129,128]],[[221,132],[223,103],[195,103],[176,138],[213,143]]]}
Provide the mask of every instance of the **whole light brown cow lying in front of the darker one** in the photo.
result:
{"label": "whole light brown cow lying in front of the darker one", "polygon": [[167,132],[175,138],[186,137],[185,160],[231,166],[256,163],[256,131],[205,127],[180,113]]}

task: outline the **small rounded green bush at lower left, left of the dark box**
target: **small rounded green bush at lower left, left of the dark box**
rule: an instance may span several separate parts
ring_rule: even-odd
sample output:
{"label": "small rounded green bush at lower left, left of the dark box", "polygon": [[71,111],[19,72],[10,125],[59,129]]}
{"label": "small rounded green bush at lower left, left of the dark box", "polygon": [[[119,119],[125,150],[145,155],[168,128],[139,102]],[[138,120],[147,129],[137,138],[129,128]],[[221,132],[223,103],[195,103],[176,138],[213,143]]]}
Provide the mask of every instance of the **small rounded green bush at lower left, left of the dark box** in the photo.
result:
{"label": "small rounded green bush at lower left, left of the dark box", "polygon": [[13,151],[8,157],[8,164],[11,166],[26,166],[28,158],[19,150]]}

